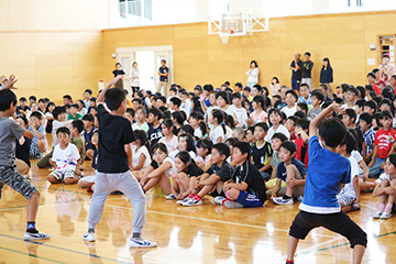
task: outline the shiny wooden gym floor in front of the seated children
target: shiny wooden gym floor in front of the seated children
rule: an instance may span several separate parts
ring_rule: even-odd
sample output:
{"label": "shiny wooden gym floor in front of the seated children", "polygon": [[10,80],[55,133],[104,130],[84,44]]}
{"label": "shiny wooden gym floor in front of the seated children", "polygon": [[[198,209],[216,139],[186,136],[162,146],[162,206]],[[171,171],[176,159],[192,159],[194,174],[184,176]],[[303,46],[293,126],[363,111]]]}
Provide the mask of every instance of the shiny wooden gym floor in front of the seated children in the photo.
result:
{"label": "shiny wooden gym floor in front of the seated children", "polygon": [[[88,162],[85,174],[89,169]],[[0,200],[0,263],[285,263],[288,228],[298,204],[266,208],[227,209],[205,199],[204,206],[185,208],[147,194],[144,238],[157,249],[128,248],[133,209],[123,195],[109,196],[97,227],[97,242],[85,243],[90,197],[77,185],[51,185],[48,169],[33,163],[32,183],[41,191],[37,229],[51,240],[23,241],[26,200],[4,187]],[[377,199],[362,196],[362,209],[349,216],[367,233],[364,263],[396,263],[396,216],[386,221],[371,218]],[[301,241],[296,263],[350,263],[348,241],[322,228]]]}

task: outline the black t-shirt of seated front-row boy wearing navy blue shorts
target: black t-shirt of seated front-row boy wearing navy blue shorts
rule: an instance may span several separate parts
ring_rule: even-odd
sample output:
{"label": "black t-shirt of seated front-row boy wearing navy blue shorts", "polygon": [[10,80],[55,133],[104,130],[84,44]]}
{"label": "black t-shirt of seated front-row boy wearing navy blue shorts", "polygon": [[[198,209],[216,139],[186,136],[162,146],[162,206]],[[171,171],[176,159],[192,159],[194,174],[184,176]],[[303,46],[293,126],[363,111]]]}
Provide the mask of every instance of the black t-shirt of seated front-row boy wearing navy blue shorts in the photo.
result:
{"label": "black t-shirt of seated front-row boy wearing navy blue shorts", "polygon": [[246,183],[248,189],[245,191],[256,195],[260,201],[264,202],[267,199],[263,177],[258,169],[249,161],[244,162],[241,166],[238,165],[231,178],[237,184]]}

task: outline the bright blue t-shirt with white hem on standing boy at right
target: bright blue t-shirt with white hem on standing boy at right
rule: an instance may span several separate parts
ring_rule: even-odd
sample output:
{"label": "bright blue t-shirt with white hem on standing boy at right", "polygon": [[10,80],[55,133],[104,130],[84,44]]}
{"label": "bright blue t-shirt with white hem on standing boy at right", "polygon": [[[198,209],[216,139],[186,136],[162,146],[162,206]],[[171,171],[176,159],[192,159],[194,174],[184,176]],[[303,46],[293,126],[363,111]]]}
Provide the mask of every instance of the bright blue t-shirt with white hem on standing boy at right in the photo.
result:
{"label": "bright blue t-shirt with white hem on standing boy at right", "polygon": [[336,213],[341,211],[337,202],[340,184],[351,182],[351,163],[341,154],[333,153],[319,144],[318,136],[309,140],[309,164],[305,196],[298,207],[312,213]]}

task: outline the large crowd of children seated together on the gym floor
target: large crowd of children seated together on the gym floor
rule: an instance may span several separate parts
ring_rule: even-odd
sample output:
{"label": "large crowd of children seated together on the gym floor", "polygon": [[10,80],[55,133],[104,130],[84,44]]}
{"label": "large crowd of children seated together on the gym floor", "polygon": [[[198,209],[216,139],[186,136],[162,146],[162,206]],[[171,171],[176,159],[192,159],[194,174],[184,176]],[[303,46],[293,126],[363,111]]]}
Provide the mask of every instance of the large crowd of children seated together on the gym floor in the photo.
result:
{"label": "large crowd of children seated together on the gym floor", "polygon": [[[202,205],[207,195],[227,208],[262,207],[267,199],[293,205],[305,195],[310,121],[336,102],[342,111],[326,119],[349,129],[337,152],[351,162],[338,201],[345,212],[359,210],[361,191],[372,191],[380,197],[374,218],[388,219],[396,196],[396,75],[374,69],[367,85],[330,91],[328,84],[293,90],[278,81],[270,90],[227,81],[188,92],[172,85],[168,98],[136,90],[124,113],[135,139],[131,170],[144,193],[180,206]],[[15,164],[28,176],[36,160],[38,168],[54,168],[50,183],[78,183],[91,193],[95,175],[84,175],[81,165],[95,168],[98,142],[106,141],[98,138],[96,98],[87,89],[81,99],[65,95],[63,101],[19,99],[14,120],[34,136],[16,141]]]}

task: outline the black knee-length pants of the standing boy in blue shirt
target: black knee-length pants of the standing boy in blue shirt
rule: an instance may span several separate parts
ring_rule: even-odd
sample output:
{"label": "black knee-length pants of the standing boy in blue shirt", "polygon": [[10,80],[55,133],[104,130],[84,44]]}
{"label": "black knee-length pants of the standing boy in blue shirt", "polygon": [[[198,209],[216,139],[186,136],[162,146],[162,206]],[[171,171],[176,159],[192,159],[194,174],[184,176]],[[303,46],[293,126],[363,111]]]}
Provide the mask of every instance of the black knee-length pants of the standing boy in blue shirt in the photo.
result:
{"label": "black knee-length pants of the standing boy in blue shirt", "polygon": [[356,244],[367,244],[366,233],[343,211],[328,215],[299,211],[292,223],[289,235],[304,240],[309,231],[319,227],[345,237],[352,249]]}

